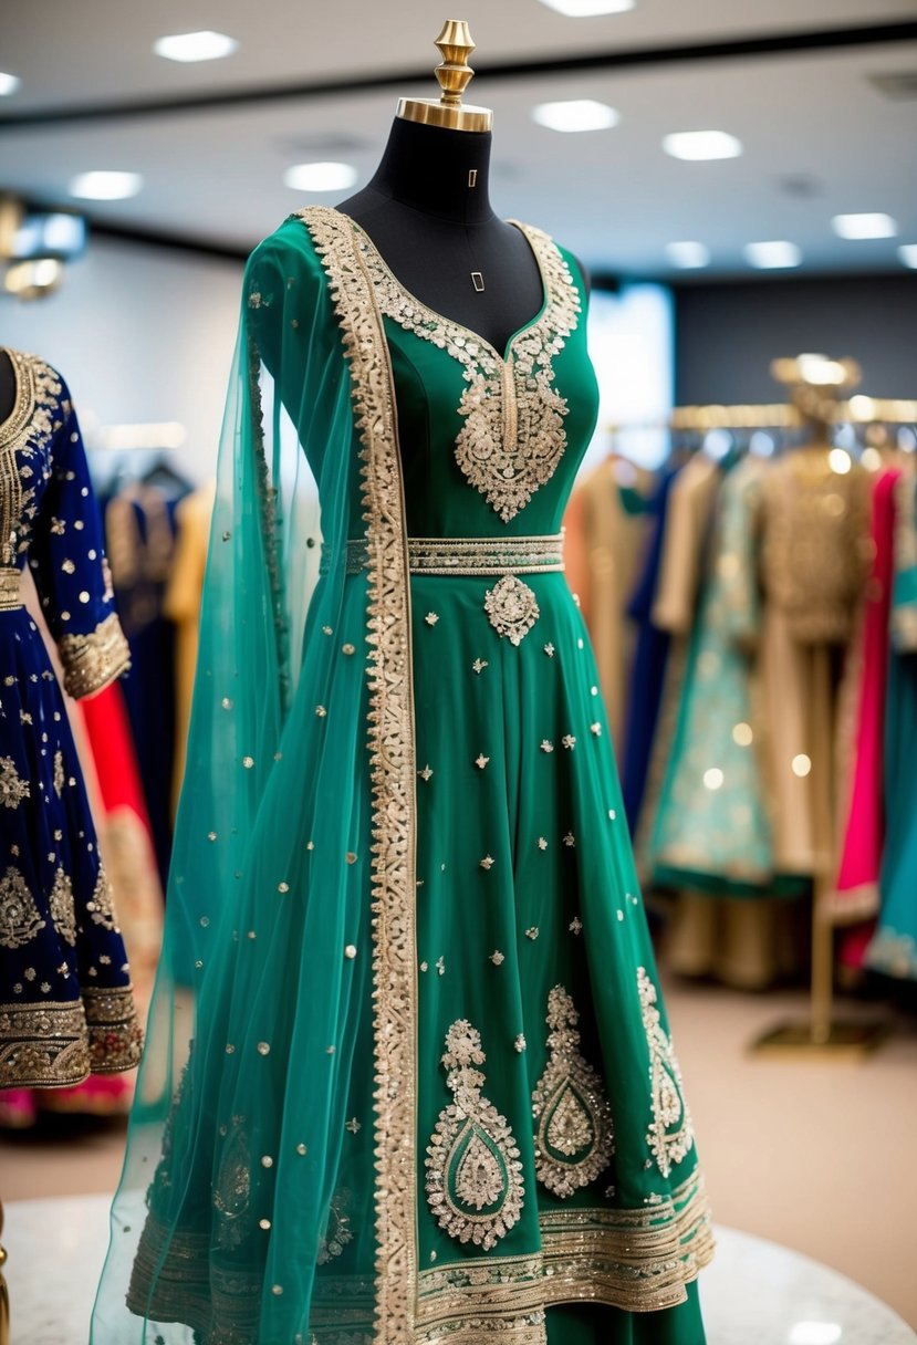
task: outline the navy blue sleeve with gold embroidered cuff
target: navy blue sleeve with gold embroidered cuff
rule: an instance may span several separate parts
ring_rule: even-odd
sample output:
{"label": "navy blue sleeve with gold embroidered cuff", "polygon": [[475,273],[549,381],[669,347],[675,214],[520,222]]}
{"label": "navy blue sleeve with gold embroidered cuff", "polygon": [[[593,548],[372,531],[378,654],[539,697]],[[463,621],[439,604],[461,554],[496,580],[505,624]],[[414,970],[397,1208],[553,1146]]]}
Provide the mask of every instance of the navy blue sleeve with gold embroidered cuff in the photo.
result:
{"label": "navy blue sleeve with gold embroidered cuff", "polygon": [[30,568],[73,697],[101,691],[130,667],[117,613],[98,504],[77,413],[62,381],[61,426],[32,529]]}

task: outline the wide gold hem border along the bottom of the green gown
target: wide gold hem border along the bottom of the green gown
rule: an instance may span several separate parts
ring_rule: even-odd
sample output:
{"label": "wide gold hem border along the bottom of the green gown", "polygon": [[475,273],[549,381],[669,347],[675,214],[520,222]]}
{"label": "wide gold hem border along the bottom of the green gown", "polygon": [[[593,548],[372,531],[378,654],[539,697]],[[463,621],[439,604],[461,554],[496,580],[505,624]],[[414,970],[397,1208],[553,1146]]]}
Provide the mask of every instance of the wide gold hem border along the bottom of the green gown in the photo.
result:
{"label": "wide gold hem border along the bottom of the green gown", "polygon": [[[492,1322],[500,1322],[510,1340],[519,1332],[526,1341],[526,1330],[561,1303],[594,1302],[631,1313],[676,1307],[687,1297],[684,1286],[713,1256],[698,1171],[668,1200],[645,1209],[542,1210],[539,1224],[539,1254],[476,1256],[421,1271],[415,1334],[403,1345],[453,1333],[467,1345],[479,1330],[483,1340]],[[208,1342],[238,1338],[247,1345],[245,1332],[257,1328],[264,1274],[219,1267],[211,1252],[210,1232],[169,1231],[149,1216],[128,1307],[155,1321],[183,1322]],[[312,1299],[312,1337],[340,1341],[342,1332],[351,1332],[355,1340],[374,1340],[372,1309],[374,1286],[364,1276],[323,1275]],[[543,1345],[543,1336],[531,1340]]]}

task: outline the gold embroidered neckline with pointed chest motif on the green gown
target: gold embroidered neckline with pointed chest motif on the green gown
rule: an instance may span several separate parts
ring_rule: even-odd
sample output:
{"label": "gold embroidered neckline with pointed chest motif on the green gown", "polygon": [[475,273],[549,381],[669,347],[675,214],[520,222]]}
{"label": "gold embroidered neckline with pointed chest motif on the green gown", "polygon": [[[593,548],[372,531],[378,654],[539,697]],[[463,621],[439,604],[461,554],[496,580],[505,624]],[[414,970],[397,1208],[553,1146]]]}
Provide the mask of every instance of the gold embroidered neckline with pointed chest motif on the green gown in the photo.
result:
{"label": "gold embroidered neckline with pointed chest motif on the green gown", "polygon": [[506,358],[481,336],[409,295],[358,231],[382,312],[424,340],[445,348],[468,385],[458,404],[464,426],[456,461],[467,480],[508,523],[550,482],[563,451],[567,404],[551,386],[553,359],[577,325],[580,292],[554,242],[539,229],[518,225],[528,239],[545,286],[541,315],[510,342]]}

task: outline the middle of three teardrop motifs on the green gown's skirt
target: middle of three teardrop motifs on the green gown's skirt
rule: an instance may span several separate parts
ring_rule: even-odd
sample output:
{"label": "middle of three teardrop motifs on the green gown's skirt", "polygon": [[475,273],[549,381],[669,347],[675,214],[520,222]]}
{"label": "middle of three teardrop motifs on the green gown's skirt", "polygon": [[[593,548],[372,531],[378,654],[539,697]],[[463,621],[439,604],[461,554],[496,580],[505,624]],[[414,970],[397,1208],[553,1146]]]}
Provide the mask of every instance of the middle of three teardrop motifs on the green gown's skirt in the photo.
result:
{"label": "middle of three teardrop motifs on the green gown's skirt", "polygon": [[602,1173],[614,1153],[612,1108],[601,1079],[580,1054],[577,1013],[563,986],[547,997],[549,1059],[532,1093],[535,1173],[565,1200]]}

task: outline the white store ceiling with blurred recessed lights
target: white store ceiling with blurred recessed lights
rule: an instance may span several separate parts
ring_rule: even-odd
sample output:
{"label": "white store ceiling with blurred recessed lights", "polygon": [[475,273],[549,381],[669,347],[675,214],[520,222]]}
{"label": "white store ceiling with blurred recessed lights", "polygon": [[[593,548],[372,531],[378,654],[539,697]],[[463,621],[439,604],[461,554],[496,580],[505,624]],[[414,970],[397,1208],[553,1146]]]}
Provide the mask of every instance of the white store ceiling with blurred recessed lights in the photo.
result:
{"label": "white store ceiling with blurred recessed lights", "polygon": [[[448,12],[429,0],[401,0],[389,13],[358,0],[313,8],[309,15],[288,0],[16,5],[4,13],[0,69],[23,83],[3,100],[0,117],[422,71],[437,61],[432,40]],[[914,20],[917,0],[637,0],[628,13],[580,20],[536,0],[467,0],[460,12],[485,66]],[[155,38],[194,28],[229,32],[239,51],[192,66],[153,55]],[[742,243],[787,238],[800,245],[809,272],[862,272],[897,266],[898,243],[917,242],[917,98],[890,100],[869,82],[906,71],[917,74],[917,42],[527,79],[483,75],[469,98],[495,112],[497,210],[550,229],[594,270],[664,274],[664,243],[699,239],[711,249],[711,272],[741,274]],[[74,174],[129,168],[144,175],[144,191],[93,203],[95,219],[247,249],[290,210],[328,199],[285,188],[284,168],[347,159],[364,180],[397,93],[434,87],[0,125],[0,188],[66,203]],[[610,102],[620,125],[575,136],[534,125],[532,104],[571,97]],[[738,136],[745,155],[686,164],[663,153],[666,132],[709,128]],[[787,179],[801,179],[807,192],[788,191]],[[831,217],[851,211],[893,215],[900,237],[835,238]]]}

